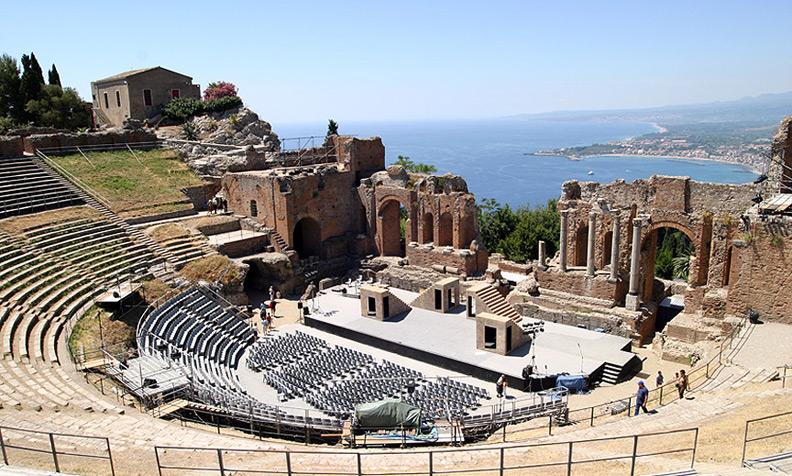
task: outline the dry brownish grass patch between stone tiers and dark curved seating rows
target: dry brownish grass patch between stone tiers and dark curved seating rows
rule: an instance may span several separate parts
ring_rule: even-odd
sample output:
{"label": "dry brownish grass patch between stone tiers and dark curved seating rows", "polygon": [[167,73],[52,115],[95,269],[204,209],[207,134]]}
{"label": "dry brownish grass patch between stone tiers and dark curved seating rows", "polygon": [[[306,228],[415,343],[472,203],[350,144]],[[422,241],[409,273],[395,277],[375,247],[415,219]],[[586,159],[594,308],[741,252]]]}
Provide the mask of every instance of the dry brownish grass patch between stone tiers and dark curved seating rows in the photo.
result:
{"label": "dry brownish grass patch between stone tiers and dark curved seating rows", "polygon": [[69,336],[72,354],[80,356],[83,352],[99,349],[103,341],[105,346],[115,349],[133,348],[135,327],[124,321],[111,319],[111,316],[111,313],[98,306],[91,307],[83,314]]}

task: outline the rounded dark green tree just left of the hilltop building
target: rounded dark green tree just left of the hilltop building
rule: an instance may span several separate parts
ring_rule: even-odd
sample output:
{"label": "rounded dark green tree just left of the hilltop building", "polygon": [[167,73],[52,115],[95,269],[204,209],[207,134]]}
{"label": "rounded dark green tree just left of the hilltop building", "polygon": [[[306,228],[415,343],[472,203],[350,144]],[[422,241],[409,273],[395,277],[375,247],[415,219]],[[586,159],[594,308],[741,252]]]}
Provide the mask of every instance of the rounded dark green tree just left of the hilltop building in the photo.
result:
{"label": "rounded dark green tree just left of the hilltop building", "polygon": [[40,99],[28,101],[25,111],[34,124],[58,129],[91,126],[91,106],[73,88],[46,85]]}

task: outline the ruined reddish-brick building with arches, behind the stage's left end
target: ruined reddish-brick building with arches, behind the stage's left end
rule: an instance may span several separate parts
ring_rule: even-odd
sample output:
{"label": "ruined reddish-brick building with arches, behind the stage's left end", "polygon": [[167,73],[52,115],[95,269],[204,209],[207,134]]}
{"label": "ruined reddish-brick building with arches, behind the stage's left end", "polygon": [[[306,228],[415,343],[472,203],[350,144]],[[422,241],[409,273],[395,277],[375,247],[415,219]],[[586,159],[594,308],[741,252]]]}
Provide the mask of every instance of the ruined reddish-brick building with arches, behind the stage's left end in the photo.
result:
{"label": "ruined reddish-brick building with arches, behind the stage's left end", "polygon": [[459,274],[486,268],[464,180],[385,170],[379,138],[335,136],[330,146],[335,153],[322,163],[224,175],[229,208],[270,229],[300,260],[377,255]]}

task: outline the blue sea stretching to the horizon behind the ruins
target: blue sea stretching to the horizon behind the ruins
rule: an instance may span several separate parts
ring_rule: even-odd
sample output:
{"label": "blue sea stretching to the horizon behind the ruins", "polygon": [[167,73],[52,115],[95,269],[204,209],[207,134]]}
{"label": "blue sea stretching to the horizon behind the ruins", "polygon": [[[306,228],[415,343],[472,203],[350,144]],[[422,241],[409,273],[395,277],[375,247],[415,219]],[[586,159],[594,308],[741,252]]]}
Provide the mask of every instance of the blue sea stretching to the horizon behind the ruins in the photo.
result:
{"label": "blue sea stretching to the horizon behind the ruins", "polygon": [[[281,138],[324,135],[326,123],[273,124]],[[581,160],[534,156],[559,147],[604,143],[654,132],[646,123],[568,122],[520,119],[341,122],[339,132],[358,137],[379,136],[387,162],[406,155],[432,164],[439,173],[462,175],[480,201],[494,198],[512,207],[544,204],[561,194],[561,184],[577,179],[632,181],[651,175],[683,175],[695,180],[745,183],[756,174],[746,167],[720,162],[596,156]],[[593,172],[589,175],[588,172]]]}

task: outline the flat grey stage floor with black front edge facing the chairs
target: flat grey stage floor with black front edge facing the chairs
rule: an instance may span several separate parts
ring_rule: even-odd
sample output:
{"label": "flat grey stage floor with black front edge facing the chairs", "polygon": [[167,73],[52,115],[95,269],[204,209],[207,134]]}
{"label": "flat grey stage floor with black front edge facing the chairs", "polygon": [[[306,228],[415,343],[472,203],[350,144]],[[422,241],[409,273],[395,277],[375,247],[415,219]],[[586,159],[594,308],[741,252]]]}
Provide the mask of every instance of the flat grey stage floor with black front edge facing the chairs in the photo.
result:
{"label": "flat grey stage floor with black front edge facing the chairs", "polygon": [[[494,382],[504,374],[513,388],[526,388],[522,372],[532,359],[535,376],[582,373],[594,380],[606,363],[627,368],[637,361],[635,354],[625,350],[630,348],[628,338],[552,322],[545,322],[544,332],[533,344],[518,347],[508,356],[498,355],[476,349],[476,322],[466,317],[463,306],[450,314],[413,308],[378,321],[360,315],[359,299],[333,289],[316,297],[316,310],[305,316],[305,325],[484,381]],[[390,289],[407,304],[417,297]]]}

